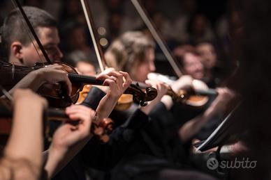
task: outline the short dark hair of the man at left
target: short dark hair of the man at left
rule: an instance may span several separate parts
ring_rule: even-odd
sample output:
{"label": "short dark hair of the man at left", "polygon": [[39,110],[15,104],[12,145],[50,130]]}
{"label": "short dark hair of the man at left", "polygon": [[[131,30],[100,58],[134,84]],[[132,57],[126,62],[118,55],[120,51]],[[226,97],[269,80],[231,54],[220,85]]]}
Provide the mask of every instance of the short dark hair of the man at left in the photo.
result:
{"label": "short dark hair of the man at left", "polygon": [[[45,10],[31,6],[24,6],[23,9],[36,33],[38,33],[38,27],[57,27],[57,21]],[[24,20],[18,14],[17,10],[17,8],[13,9],[3,22],[3,48],[8,55],[10,54],[9,47],[12,42],[19,41],[22,44],[31,42],[28,35],[30,31],[27,29],[27,26],[24,26]]]}

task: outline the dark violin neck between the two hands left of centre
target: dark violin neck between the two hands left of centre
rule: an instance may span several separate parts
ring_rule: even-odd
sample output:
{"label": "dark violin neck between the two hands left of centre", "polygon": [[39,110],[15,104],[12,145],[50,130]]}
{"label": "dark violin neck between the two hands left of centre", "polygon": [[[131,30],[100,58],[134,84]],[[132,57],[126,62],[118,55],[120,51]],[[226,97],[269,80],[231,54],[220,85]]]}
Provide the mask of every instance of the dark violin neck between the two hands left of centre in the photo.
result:
{"label": "dark violin neck between the two hands left of centre", "polygon": [[94,76],[69,73],[68,79],[70,79],[72,83],[82,83],[83,85],[103,85],[103,81],[96,79]]}

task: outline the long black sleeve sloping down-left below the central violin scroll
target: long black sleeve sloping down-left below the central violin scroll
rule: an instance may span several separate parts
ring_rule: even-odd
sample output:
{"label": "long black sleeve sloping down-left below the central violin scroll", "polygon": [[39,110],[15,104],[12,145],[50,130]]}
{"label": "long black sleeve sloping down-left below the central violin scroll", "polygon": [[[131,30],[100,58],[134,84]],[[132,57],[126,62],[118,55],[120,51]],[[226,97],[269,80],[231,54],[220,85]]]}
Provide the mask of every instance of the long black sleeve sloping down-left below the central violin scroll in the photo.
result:
{"label": "long black sleeve sloping down-left below the central violin scroll", "polygon": [[96,137],[91,138],[80,153],[82,161],[98,170],[110,170],[124,156],[138,136],[138,130],[147,124],[148,119],[149,117],[138,109],[125,124],[112,132],[109,142],[103,143]]}

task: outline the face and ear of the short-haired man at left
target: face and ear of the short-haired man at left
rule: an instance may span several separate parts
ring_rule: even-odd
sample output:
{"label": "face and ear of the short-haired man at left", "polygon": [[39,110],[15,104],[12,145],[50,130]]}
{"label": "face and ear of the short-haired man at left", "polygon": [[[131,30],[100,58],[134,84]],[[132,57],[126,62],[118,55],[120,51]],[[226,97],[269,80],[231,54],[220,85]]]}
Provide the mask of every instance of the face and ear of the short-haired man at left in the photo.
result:
{"label": "face and ear of the short-haired man at left", "polygon": [[[45,48],[47,55],[49,56],[52,62],[60,61],[63,57],[58,44],[59,44],[59,35],[57,28],[55,27],[39,27],[38,31],[39,40]],[[38,48],[36,42],[34,42],[35,47]],[[11,44],[11,55],[10,63],[19,63],[21,65],[35,65],[35,63],[46,63],[47,61],[41,53],[41,49],[38,49],[38,53],[34,44],[30,42],[29,44],[21,44],[20,42],[13,42]],[[40,54],[41,56],[39,56]]]}

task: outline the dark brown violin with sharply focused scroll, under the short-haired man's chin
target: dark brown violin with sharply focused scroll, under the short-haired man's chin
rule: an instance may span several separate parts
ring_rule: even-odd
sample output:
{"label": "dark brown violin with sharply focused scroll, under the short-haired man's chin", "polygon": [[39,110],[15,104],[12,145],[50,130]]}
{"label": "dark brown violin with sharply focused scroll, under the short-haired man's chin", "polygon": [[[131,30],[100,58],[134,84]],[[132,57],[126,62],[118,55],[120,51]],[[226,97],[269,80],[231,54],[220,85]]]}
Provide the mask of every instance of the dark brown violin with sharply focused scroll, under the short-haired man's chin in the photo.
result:
{"label": "dark brown violin with sharply focused scroll, under the short-haired man's chin", "polygon": [[[53,63],[54,64],[54,63]],[[57,62],[68,73],[68,78],[72,83],[71,97],[65,97],[64,90],[61,88],[61,84],[47,84],[41,86],[38,89],[38,94],[46,97],[50,106],[56,108],[64,108],[75,104],[79,98],[79,92],[83,89],[84,85],[103,85],[103,81],[97,80],[95,76],[84,76],[78,74],[78,72],[71,65],[66,63]],[[0,79],[1,84],[7,90],[10,90],[16,83],[18,83],[24,76],[36,69],[40,69],[48,65],[47,63],[36,63],[32,67],[24,67],[20,65],[13,65],[10,63],[0,62]],[[133,96],[133,101],[146,106],[147,101],[152,101],[157,96],[157,90],[152,87],[147,87],[145,92],[141,90],[137,85],[131,84],[126,89],[124,94]]]}

